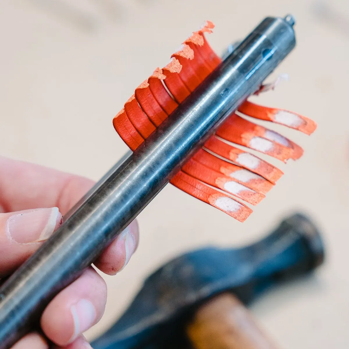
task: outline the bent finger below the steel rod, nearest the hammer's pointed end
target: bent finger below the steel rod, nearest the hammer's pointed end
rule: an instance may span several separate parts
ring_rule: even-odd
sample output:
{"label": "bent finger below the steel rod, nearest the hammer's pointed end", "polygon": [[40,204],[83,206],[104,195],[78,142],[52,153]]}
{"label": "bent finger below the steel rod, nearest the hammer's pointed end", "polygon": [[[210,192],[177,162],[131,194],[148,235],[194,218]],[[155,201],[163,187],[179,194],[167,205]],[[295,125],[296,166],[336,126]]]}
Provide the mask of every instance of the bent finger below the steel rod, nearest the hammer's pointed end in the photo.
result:
{"label": "bent finger below the steel rod, nearest the hammer's pointed end", "polygon": [[73,343],[102,317],[106,296],[105,281],[87,269],[46,307],[41,317],[44,333],[58,346]]}

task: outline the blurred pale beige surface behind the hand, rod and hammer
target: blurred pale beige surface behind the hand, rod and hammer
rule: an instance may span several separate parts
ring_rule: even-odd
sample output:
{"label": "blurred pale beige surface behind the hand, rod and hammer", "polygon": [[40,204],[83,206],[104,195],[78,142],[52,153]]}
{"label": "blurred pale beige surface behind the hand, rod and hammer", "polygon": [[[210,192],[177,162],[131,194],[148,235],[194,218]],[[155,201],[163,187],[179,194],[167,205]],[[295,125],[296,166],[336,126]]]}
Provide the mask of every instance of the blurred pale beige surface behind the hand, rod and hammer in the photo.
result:
{"label": "blurred pale beige surface behind the hand, rod and hammer", "polygon": [[[313,118],[311,138],[283,130],[305,148],[278,185],[240,224],[168,185],[139,216],[140,246],[109,286],[106,329],[143,278],[186,250],[259,239],[294,210],[324,233],[327,260],[309,278],[268,292],[252,306],[282,348],[349,348],[348,197],[349,2],[328,0],[2,0],[1,154],[98,180],[127,150],[113,116],[140,82],[196,30],[214,21],[218,53],[263,17],[297,18],[296,50],[277,69],[290,81],[258,97]],[[274,162],[275,163],[275,162]]]}

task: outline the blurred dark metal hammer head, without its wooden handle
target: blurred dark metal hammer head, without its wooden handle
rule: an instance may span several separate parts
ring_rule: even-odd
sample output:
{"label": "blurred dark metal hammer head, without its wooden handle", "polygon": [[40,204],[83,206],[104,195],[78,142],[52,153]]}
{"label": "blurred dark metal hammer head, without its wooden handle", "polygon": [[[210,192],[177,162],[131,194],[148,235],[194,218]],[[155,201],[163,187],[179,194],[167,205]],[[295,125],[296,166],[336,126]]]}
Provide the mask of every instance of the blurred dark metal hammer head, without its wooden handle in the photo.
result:
{"label": "blurred dark metal hammer head, without its wooden handle", "polygon": [[186,253],[150,275],[126,312],[92,347],[184,348],[186,319],[208,298],[230,291],[248,304],[271,285],[311,272],[323,260],[320,234],[300,214],[252,245]]}

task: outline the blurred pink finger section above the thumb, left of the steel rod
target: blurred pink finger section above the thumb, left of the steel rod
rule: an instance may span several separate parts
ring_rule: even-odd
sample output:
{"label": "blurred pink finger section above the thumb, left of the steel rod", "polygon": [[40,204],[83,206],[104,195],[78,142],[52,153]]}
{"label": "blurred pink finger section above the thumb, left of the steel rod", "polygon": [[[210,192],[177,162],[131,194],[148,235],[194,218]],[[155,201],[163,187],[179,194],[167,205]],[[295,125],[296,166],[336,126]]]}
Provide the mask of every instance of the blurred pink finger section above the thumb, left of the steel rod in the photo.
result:
{"label": "blurred pink finger section above the thumb, left of the steel rod", "polygon": [[0,156],[0,213],[57,206],[65,214],[93,184],[87,178]]}

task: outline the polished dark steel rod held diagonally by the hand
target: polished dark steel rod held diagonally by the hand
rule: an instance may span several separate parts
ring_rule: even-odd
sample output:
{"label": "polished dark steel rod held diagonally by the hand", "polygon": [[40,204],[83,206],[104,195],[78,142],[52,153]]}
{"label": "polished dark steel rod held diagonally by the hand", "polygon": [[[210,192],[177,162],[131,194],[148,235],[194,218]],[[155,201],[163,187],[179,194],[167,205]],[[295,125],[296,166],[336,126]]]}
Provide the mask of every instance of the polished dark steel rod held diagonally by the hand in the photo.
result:
{"label": "polished dark steel rod held diagonally by the hand", "polygon": [[0,349],[36,324],[295,46],[292,16],[267,17],[143,144],[111,169],[0,289]]}

